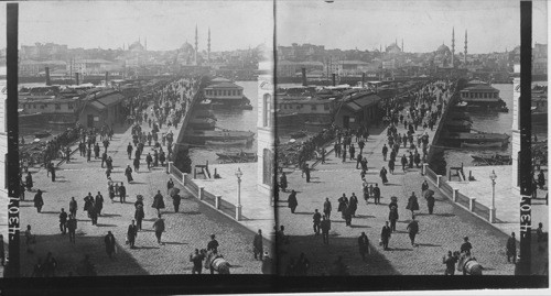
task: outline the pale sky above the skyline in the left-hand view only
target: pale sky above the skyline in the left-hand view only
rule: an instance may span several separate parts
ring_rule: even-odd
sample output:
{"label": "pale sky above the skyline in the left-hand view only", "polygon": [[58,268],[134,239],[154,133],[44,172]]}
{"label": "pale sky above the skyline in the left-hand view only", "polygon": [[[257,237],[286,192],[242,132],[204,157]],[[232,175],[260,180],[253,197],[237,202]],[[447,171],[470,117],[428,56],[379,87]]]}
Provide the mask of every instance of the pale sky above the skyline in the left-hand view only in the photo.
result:
{"label": "pale sky above the skyline in the left-hand view only", "polygon": [[213,52],[271,46],[273,40],[269,0],[20,2],[19,13],[20,45],[118,48],[125,43],[128,48],[147,37],[148,50],[175,50],[186,41],[194,44],[195,25],[199,51],[207,47],[208,28]]}

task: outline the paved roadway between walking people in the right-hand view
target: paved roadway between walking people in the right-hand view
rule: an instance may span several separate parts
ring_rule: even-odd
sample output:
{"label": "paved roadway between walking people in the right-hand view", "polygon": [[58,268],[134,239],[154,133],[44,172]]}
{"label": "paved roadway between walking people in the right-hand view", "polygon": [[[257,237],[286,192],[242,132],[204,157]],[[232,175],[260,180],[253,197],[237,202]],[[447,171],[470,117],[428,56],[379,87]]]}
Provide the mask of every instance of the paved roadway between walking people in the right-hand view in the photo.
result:
{"label": "paved roadway between walking people in the right-hand view", "polygon": [[[417,133],[421,133],[422,128]],[[398,132],[404,133],[403,124],[399,124]],[[388,174],[389,184],[381,186],[379,171],[387,166],[382,161],[381,149],[387,142],[386,130],[375,130],[370,128],[371,135],[366,142],[364,155],[368,160],[368,182],[376,182],[381,187],[381,202],[366,205],[363,199],[360,169],[356,169],[356,161],[336,158],[331,152],[325,164],[317,164],[312,171],[311,183],[306,183],[301,177],[301,172],[295,171],[288,175],[289,188],[298,191],[299,206],[295,213],[291,213],[288,208],[287,196],[283,194],[283,201],[278,204],[279,223],[285,227],[285,234],[290,237],[290,244],[284,246],[284,253],[280,256],[280,272],[283,272],[290,257],[298,257],[300,252],[304,252],[311,262],[309,274],[327,274],[331,264],[342,255],[345,264],[348,265],[353,275],[437,275],[444,274],[445,265],[442,257],[449,250],[455,251],[463,243],[463,237],[468,235],[473,244],[473,254],[485,267],[485,274],[509,275],[514,273],[514,265],[507,263],[505,254],[505,243],[507,235],[497,229],[488,226],[479,218],[473,217],[464,209],[458,208],[444,197],[431,185],[436,198],[434,213],[429,216],[426,201],[421,198],[421,184],[423,176],[420,168],[409,169],[402,173],[400,156],[397,156],[395,174]],[[432,140],[432,138],[431,138]],[[354,141],[354,140],[353,140]],[[355,144],[357,147],[357,144]],[[332,145],[331,145],[332,147]],[[359,152],[359,149],[356,150]],[[406,153],[403,146],[398,155]],[[349,157],[349,156],[348,156]],[[388,169],[388,168],[387,168]],[[411,215],[406,210],[408,197],[411,191],[415,191],[420,204],[417,220],[420,226],[420,233],[415,243],[419,246],[411,246],[407,226]],[[337,199],[352,193],[358,196],[358,210],[356,218],[353,218],[352,228],[346,227],[341,212],[337,212]],[[391,251],[383,251],[378,245],[380,231],[388,219],[388,204],[390,196],[398,197],[400,219],[397,222],[397,232],[392,233],[389,248]],[[332,230],[329,231],[329,244],[324,245],[322,237],[314,235],[312,228],[312,216],[314,209],[323,211],[323,202],[328,197],[332,206]],[[372,199],[371,199],[372,201]],[[365,231],[369,242],[371,253],[367,262],[361,261],[358,252],[357,238]]]}

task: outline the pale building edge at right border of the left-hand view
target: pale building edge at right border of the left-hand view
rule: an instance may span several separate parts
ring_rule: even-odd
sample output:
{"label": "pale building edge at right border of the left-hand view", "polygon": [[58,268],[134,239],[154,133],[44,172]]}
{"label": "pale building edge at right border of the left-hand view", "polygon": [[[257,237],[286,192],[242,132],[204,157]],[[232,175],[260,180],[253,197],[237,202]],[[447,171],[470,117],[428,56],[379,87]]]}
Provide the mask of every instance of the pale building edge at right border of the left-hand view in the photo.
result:
{"label": "pale building edge at right border of the left-hand view", "polygon": [[258,169],[257,188],[259,191],[272,196],[273,182],[276,178],[276,166],[273,154],[274,147],[274,87],[273,87],[273,63],[271,59],[259,63],[258,76],[258,121],[257,121],[257,147]]}

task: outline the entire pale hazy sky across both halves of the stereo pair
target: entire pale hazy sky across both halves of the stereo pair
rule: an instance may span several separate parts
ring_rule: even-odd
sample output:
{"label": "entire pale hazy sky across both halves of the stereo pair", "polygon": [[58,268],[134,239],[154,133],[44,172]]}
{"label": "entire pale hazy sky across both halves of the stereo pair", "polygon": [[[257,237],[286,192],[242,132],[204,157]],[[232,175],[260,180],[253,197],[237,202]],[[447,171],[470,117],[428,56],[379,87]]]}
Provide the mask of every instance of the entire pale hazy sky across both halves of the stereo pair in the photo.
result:
{"label": "entire pale hazy sky across both halves of the stereo pair", "polygon": [[[2,11],[6,6],[0,3]],[[533,41],[547,43],[547,2],[533,3]],[[241,1],[45,1],[20,2],[20,44],[54,42],[69,47],[117,48],[141,36],[148,50],[174,50],[186,40],[199,51],[247,48],[271,44],[272,0]],[[6,12],[2,12],[2,14]],[[468,53],[511,50],[520,44],[517,0],[375,1],[278,0],[277,43],[312,43],[326,48],[374,50],[403,39],[407,52],[434,51],[451,45],[463,51],[468,30]],[[6,18],[0,18],[6,28]],[[3,30],[2,30],[3,31]],[[4,32],[2,32],[2,35]],[[6,37],[0,39],[6,47]]]}

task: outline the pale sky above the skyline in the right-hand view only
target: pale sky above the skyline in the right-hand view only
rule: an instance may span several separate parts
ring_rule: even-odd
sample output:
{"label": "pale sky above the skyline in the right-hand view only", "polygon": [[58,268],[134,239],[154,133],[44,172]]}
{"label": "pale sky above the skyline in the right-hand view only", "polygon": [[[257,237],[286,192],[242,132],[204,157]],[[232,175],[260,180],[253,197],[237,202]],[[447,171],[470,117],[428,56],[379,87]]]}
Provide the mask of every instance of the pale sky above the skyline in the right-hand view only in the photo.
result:
{"label": "pale sky above the skyline in the right-hand view only", "polygon": [[[520,44],[520,2],[280,0],[277,44],[322,44],[325,48],[374,50],[398,40],[406,52],[433,52],[442,43],[469,54],[504,52]],[[532,4],[532,41],[547,43],[547,2]]]}

